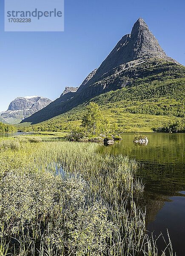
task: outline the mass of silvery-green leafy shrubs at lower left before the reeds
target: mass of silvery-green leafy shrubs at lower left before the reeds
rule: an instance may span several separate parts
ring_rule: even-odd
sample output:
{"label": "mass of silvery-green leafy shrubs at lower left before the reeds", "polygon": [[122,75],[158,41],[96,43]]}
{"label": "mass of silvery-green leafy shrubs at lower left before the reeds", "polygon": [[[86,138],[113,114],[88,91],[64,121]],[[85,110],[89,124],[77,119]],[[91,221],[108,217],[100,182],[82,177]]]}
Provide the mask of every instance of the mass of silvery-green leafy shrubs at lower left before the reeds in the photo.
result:
{"label": "mass of silvery-green leafy shrubs at lower left before the reeds", "polygon": [[9,251],[18,251],[21,241],[25,248],[43,247],[47,253],[42,255],[100,255],[116,228],[106,207],[85,205],[85,196],[86,183],[79,175],[62,179],[29,169],[6,173],[0,180],[0,226]]}

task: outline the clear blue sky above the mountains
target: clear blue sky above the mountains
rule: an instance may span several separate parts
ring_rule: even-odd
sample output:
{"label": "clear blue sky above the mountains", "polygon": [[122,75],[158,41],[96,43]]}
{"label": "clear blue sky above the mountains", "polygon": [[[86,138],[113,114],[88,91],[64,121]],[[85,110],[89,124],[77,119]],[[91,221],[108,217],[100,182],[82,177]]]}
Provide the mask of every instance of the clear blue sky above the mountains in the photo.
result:
{"label": "clear blue sky above the mountains", "polygon": [[167,55],[185,65],[184,0],[65,0],[64,32],[4,32],[0,0],[0,111],[17,96],[56,99],[99,67],[142,17]]}

